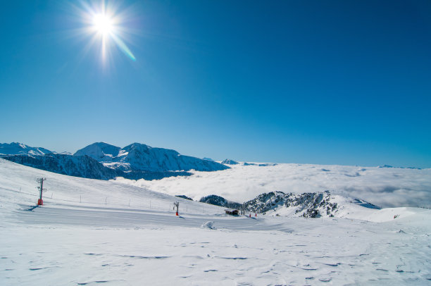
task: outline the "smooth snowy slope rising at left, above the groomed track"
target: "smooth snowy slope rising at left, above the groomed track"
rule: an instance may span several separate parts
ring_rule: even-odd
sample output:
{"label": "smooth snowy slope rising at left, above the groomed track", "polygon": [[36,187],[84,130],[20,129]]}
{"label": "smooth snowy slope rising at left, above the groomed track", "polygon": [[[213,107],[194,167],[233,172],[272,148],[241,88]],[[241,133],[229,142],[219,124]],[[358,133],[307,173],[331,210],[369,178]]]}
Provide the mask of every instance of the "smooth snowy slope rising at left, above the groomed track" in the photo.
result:
{"label": "smooth snowy slope rising at left, above the groomed track", "polygon": [[144,209],[149,209],[149,201],[151,200],[151,209],[171,211],[173,202],[181,201],[180,208],[187,207],[189,212],[202,213],[202,206],[205,207],[204,211],[206,212],[220,212],[218,206],[199,204],[196,201],[151,192],[149,189],[141,187],[51,173],[0,158],[0,189],[6,193],[16,194],[18,192],[18,194],[30,195],[28,204],[34,204],[37,201],[35,198],[39,192],[36,189],[38,185],[35,179],[42,177],[46,178],[44,183],[44,187],[47,188],[45,192],[46,204],[53,201],[70,206],[106,204],[107,206],[128,207],[130,204],[130,206],[143,206]]}

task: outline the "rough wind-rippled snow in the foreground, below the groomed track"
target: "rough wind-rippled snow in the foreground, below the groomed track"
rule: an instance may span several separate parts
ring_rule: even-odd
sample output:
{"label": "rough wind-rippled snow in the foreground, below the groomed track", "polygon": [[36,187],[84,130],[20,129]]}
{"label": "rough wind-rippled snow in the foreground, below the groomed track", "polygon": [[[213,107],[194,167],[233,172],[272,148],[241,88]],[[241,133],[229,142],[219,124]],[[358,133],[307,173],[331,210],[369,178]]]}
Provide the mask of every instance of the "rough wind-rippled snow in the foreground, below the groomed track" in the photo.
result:
{"label": "rough wind-rippled snow in the foreground, below the groomed track", "polygon": [[[78,225],[51,221],[33,225],[23,220],[4,228],[0,243],[7,247],[1,250],[1,281],[6,285],[101,281],[107,285],[427,285],[431,280],[430,232],[406,225],[270,218],[268,225],[265,219],[255,230],[236,230],[242,225],[240,219],[232,228],[220,227],[215,220],[218,228],[210,230],[163,220],[159,225],[135,221],[134,226],[107,226],[108,222],[96,226],[93,217],[89,213],[87,224],[79,220]],[[290,232],[277,230],[280,225],[288,225]]]}

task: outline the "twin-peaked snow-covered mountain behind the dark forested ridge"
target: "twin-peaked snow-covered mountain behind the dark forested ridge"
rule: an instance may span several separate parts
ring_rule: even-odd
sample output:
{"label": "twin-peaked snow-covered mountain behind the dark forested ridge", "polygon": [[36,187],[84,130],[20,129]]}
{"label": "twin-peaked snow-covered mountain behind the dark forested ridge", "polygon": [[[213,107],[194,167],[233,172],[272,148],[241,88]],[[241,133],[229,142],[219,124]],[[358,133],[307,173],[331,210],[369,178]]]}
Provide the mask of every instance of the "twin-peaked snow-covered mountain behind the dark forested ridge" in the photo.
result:
{"label": "twin-peaked snow-covered mountain behind the dark forested ridge", "polygon": [[104,142],[91,144],[78,150],[74,156],[87,155],[115,170],[140,170],[166,172],[179,170],[214,171],[229,167],[223,164],[181,155],[175,150],[149,147],[146,144],[133,143],[124,148]]}

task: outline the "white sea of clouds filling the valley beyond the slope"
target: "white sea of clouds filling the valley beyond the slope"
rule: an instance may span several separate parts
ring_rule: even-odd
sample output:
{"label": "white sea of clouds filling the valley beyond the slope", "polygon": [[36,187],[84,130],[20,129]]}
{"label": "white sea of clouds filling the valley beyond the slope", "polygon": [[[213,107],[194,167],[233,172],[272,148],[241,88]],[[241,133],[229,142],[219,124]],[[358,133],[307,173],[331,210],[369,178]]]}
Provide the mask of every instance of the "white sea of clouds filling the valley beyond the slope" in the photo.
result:
{"label": "white sea of clouds filling the valley beyond the slope", "polygon": [[[230,169],[163,180],[125,180],[165,194],[185,194],[199,200],[216,194],[230,201],[249,201],[266,192],[323,192],[358,197],[382,207],[431,207],[431,169],[337,165],[231,165]],[[262,165],[262,164],[261,164]]]}

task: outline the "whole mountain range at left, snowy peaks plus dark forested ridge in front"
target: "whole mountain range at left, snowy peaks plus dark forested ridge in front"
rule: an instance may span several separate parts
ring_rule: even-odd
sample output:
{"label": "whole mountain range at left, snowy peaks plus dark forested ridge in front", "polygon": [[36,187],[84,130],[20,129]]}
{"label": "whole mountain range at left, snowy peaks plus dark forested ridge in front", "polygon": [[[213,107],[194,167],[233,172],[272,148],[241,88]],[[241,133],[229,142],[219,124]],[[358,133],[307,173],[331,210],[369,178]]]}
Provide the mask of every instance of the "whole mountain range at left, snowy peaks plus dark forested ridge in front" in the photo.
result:
{"label": "whole mountain range at left, snowy peaks plus dark forested ridge in front", "polygon": [[188,176],[187,170],[225,170],[223,164],[180,155],[175,150],[134,143],[120,148],[104,142],[91,144],[75,154],[56,153],[25,144],[0,144],[0,155],[8,161],[81,178],[110,180],[160,180]]}

